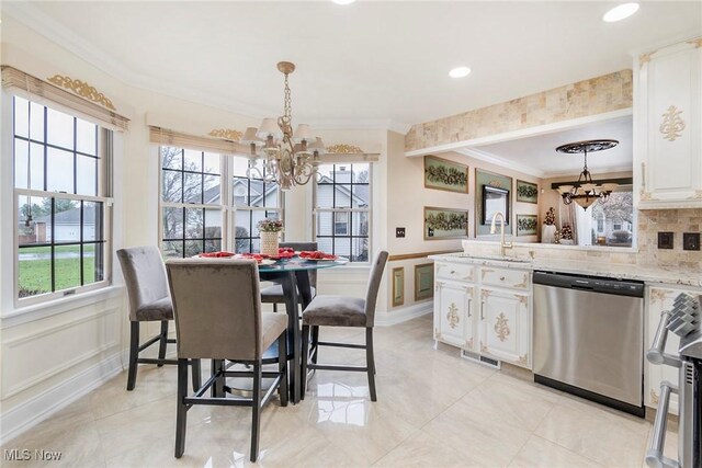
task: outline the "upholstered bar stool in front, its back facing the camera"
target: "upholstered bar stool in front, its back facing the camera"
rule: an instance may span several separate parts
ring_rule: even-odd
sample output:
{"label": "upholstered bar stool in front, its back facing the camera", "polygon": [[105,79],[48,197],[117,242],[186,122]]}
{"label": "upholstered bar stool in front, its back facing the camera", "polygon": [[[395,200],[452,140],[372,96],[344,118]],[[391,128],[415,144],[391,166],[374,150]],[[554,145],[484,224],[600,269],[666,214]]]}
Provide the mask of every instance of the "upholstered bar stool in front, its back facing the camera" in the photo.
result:
{"label": "upholstered bar stool in front, its back facing the camera", "polygon": [[[287,404],[287,316],[261,312],[258,265],[253,260],[183,259],[166,264],[173,298],[178,336],[178,413],[176,457],[185,450],[186,412],[193,404],[250,406],[251,461],[259,453],[261,408],[278,388],[281,406]],[[278,340],[278,372],[263,372],[263,352]],[[213,375],[192,397],[188,396],[188,359],[213,359]],[[252,366],[252,370],[226,370],[224,361]],[[226,377],[253,378],[251,398],[227,398]],[[273,384],[261,397],[261,379]],[[205,397],[211,390],[212,397]]]}

